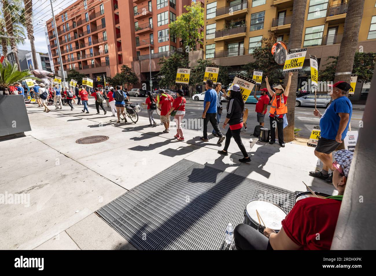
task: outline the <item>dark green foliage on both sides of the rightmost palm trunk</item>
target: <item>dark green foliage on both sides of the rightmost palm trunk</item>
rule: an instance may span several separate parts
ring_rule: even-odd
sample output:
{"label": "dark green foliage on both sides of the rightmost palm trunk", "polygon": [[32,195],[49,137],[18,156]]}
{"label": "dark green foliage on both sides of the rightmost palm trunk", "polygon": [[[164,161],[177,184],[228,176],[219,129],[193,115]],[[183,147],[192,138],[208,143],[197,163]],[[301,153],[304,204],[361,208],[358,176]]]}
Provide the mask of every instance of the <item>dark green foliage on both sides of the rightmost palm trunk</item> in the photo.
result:
{"label": "dark green foliage on both sides of the rightmost palm trunk", "polygon": [[[330,56],[326,61],[325,69],[318,71],[319,81],[334,81],[335,68],[338,57]],[[376,53],[356,52],[354,57],[353,74],[358,74],[358,80],[370,82],[373,76]]]}

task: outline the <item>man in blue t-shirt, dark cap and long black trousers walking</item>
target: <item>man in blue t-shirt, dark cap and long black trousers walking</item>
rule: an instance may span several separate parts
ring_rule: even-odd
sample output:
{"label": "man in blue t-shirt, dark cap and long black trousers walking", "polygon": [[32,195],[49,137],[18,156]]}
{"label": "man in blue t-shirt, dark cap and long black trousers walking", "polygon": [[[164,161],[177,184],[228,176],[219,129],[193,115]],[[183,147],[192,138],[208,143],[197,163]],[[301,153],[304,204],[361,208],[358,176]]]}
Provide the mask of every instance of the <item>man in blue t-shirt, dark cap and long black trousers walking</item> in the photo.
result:
{"label": "man in blue t-shirt, dark cap and long black trousers walking", "polygon": [[213,89],[213,81],[207,80],[205,83],[205,98],[204,98],[204,112],[202,113],[202,118],[204,119],[204,130],[200,138],[201,141],[208,142],[208,122],[212,124],[215,133],[218,135],[219,140],[217,144],[221,144],[225,138],[222,134],[218,122],[217,122],[217,92]]}

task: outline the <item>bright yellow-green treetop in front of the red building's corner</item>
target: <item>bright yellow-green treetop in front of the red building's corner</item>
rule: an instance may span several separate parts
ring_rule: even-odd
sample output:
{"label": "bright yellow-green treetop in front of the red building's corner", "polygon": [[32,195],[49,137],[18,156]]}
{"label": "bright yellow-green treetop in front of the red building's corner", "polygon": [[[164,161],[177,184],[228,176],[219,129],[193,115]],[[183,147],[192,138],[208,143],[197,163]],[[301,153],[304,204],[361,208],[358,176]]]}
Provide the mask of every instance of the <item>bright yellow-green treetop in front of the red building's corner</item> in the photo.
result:
{"label": "bright yellow-green treetop in front of the red building's corner", "polygon": [[200,2],[184,6],[187,12],[182,13],[176,21],[169,24],[170,34],[180,37],[183,47],[190,51],[197,50],[197,43],[203,44],[204,33],[199,32],[204,25],[204,9]]}

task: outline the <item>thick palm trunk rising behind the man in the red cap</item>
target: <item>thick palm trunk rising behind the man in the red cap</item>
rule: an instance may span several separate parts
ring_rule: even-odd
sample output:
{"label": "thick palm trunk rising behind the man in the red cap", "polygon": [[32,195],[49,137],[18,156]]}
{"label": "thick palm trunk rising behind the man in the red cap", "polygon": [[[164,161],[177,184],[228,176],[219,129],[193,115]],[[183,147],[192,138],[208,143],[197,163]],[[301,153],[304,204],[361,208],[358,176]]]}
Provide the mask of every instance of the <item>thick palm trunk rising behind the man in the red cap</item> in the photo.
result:
{"label": "thick palm trunk rising behind the man in the red cap", "polygon": [[[334,77],[334,83],[337,81],[346,81],[347,83],[350,83],[351,73],[340,75],[337,75],[337,73],[352,72],[355,52],[358,48],[358,36],[363,16],[364,0],[352,0],[349,1],[348,5],[349,7],[345,18],[340,54],[338,55],[338,62],[335,68],[336,75]],[[348,92],[346,93],[346,96],[349,96]]]}

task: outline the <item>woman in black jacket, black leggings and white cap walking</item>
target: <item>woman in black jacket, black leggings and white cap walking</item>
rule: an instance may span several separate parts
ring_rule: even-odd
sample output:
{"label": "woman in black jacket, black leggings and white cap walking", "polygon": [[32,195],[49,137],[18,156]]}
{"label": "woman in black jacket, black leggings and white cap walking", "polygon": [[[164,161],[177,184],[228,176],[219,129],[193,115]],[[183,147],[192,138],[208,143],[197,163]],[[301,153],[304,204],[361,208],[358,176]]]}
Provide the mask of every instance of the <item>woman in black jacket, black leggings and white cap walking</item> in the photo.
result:
{"label": "woman in black jacket, black leggings and white cap walking", "polygon": [[231,137],[233,137],[244,156],[244,158],[239,159],[239,161],[246,163],[251,162],[251,159],[249,158],[246,148],[244,147],[240,137],[240,130],[243,127],[243,110],[244,102],[240,92],[240,87],[237,84],[234,84],[231,87],[230,101],[227,104],[227,115],[223,123],[223,129],[226,129],[227,124],[230,125],[230,129],[227,130],[226,133],[224,148],[223,150],[218,150],[218,153],[228,155],[227,149],[229,148]]}

